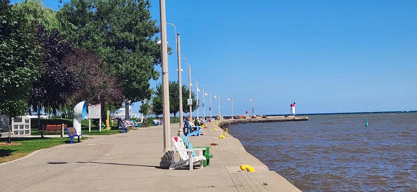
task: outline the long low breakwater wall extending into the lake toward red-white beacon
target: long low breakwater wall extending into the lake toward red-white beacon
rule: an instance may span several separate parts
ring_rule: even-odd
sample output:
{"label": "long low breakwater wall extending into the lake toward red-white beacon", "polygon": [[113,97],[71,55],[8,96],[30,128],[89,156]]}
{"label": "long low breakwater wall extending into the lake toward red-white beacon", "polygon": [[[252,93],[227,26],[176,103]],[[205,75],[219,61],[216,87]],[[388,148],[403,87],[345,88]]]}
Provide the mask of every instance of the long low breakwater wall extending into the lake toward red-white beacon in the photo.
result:
{"label": "long low breakwater wall extending into the lake toward red-white beacon", "polygon": [[267,118],[243,118],[243,119],[230,119],[219,122],[219,127],[224,128],[229,125],[235,125],[240,123],[273,123],[273,122],[284,122],[284,121],[309,121],[308,116],[273,116]]}

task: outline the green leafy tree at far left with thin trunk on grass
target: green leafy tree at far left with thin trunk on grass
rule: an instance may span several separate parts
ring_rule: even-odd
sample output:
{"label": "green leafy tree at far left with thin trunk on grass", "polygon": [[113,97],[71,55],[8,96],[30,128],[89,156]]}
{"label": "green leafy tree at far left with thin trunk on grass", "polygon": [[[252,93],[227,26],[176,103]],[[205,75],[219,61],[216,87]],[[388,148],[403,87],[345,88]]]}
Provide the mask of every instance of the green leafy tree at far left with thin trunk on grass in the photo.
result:
{"label": "green leafy tree at far left with thin trunk on grass", "polygon": [[40,78],[43,65],[34,27],[9,0],[0,1],[0,114],[9,118],[9,140],[13,118],[28,111],[28,90]]}

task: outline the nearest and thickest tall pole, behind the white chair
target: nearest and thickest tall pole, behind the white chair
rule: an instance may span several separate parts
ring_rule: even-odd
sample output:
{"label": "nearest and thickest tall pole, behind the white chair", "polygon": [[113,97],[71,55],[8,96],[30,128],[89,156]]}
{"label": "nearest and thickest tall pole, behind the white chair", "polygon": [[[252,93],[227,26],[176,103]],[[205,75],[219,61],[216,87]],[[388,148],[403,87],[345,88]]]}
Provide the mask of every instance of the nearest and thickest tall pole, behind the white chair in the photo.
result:
{"label": "nearest and thickest tall pole, behind the white chair", "polygon": [[169,82],[168,82],[168,49],[166,44],[166,16],[165,0],[159,0],[161,21],[161,62],[162,62],[162,105],[163,105],[163,151],[168,152],[171,148],[171,127],[169,113]]}

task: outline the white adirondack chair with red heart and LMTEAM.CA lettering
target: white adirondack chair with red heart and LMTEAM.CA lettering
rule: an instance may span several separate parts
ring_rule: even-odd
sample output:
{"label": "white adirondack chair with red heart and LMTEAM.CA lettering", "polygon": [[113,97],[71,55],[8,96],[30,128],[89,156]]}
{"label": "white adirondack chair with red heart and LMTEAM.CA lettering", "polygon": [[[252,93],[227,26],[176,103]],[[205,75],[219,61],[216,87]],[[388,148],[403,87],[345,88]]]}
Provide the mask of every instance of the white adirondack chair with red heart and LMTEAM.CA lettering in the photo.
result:
{"label": "white adirondack chair with red heart and LMTEAM.CA lettering", "polygon": [[[190,165],[190,170],[193,170],[193,164],[196,162],[200,163],[200,168],[203,168],[203,160],[206,160],[206,157],[203,156],[203,150],[206,149],[187,149],[184,146],[184,142],[181,137],[174,136],[172,137],[172,156],[171,156],[171,165],[169,166],[170,170],[185,167]],[[176,148],[176,150],[175,150]],[[199,151],[199,156],[193,157],[193,151]],[[175,153],[180,155],[180,161],[175,162],[174,157]]]}

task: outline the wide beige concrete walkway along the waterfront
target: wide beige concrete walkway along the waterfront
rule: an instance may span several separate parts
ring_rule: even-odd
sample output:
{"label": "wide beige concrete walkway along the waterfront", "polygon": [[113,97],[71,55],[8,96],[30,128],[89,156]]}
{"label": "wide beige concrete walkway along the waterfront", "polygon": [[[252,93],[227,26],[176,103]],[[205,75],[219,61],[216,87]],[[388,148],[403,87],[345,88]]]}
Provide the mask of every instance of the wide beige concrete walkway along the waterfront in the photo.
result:
{"label": "wide beige concrete walkway along the waterfront", "polygon": [[[171,124],[171,136],[177,135],[178,126]],[[189,137],[194,146],[218,144],[210,149],[210,166],[203,169],[159,169],[163,128],[154,126],[58,145],[2,164],[0,191],[300,191],[247,153],[236,138],[218,138],[223,134],[218,129]],[[241,171],[243,164],[256,172]]]}

